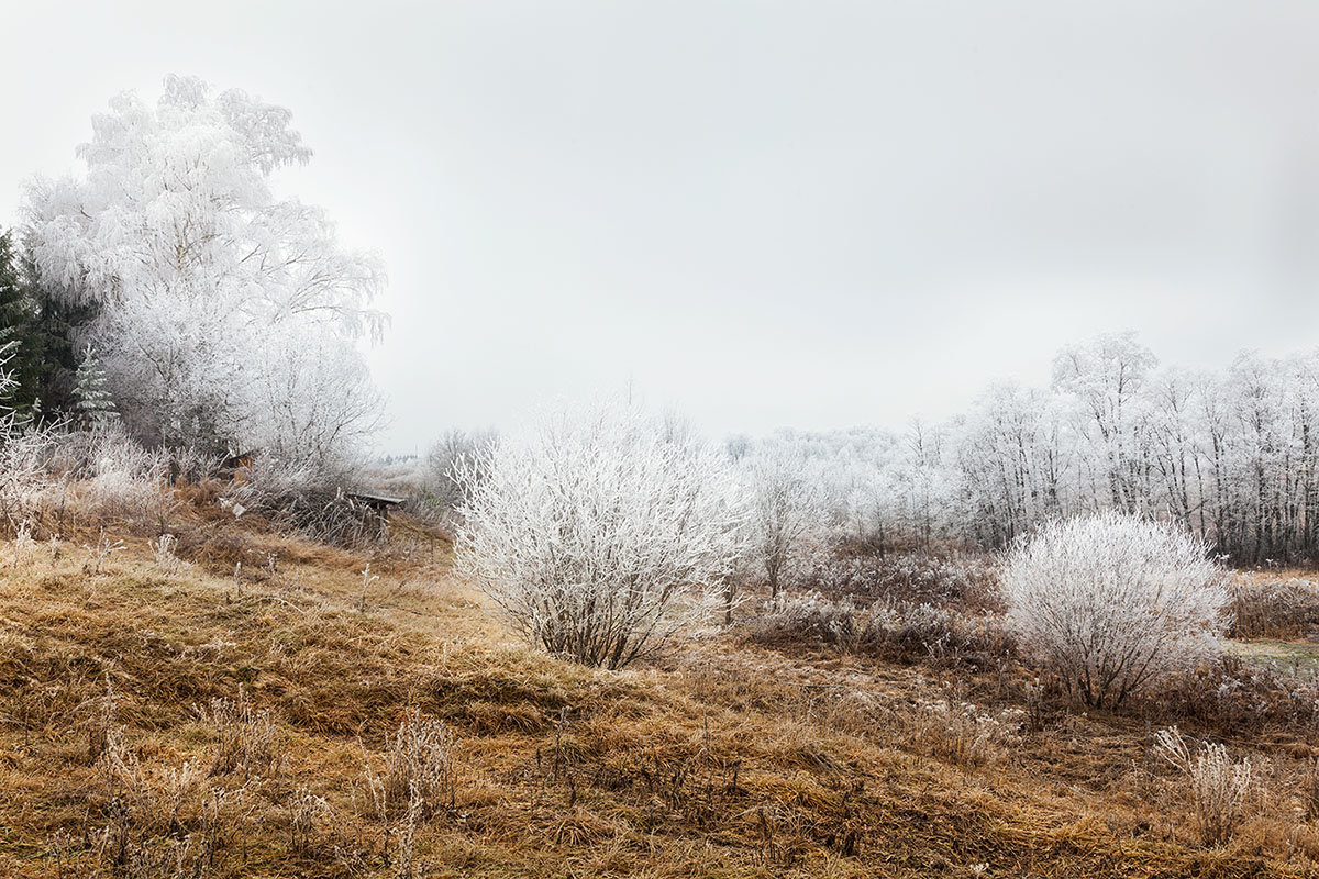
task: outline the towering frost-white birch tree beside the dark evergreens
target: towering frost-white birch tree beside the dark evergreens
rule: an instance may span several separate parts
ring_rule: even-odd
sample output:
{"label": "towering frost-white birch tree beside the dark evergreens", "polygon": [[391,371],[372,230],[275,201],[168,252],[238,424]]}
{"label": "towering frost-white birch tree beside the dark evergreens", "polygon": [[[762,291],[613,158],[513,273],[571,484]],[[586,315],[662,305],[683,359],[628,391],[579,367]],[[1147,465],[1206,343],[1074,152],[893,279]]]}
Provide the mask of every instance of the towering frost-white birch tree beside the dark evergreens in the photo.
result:
{"label": "towering frost-white birch tree beside the dark evergreens", "polygon": [[[26,240],[46,295],[91,314],[78,343],[96,347],[136,436],[324,455],[369,424],[352,343],[384,326],[381,269],[342,248],[323,211],[272,192],[311,156],[288,109],[170,76],[154,104],[115,98],[78,156],[83,173],[28,186]],[[351,405],[307,406],[326,390],[309,357]]]}

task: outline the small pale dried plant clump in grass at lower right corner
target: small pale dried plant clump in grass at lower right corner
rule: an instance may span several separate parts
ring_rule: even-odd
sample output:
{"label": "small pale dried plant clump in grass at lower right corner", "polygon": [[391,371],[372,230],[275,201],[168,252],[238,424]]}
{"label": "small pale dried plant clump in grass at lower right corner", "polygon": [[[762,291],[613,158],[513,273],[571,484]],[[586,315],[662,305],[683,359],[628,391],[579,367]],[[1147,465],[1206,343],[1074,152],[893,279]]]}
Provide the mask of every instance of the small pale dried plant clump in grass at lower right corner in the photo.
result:
{"label": "small pale dried plant clump in grass at lower right corner", "polygon": [[1192,755],[1175,726],[1154,734],[1154,752],[1190,781],[1200,841],[1208,846],[1228,842],[1241,824],[1245,799],[1254,784],[1256,768],[1249,758],[1233,762],[1225,746],[1210,742]]}

